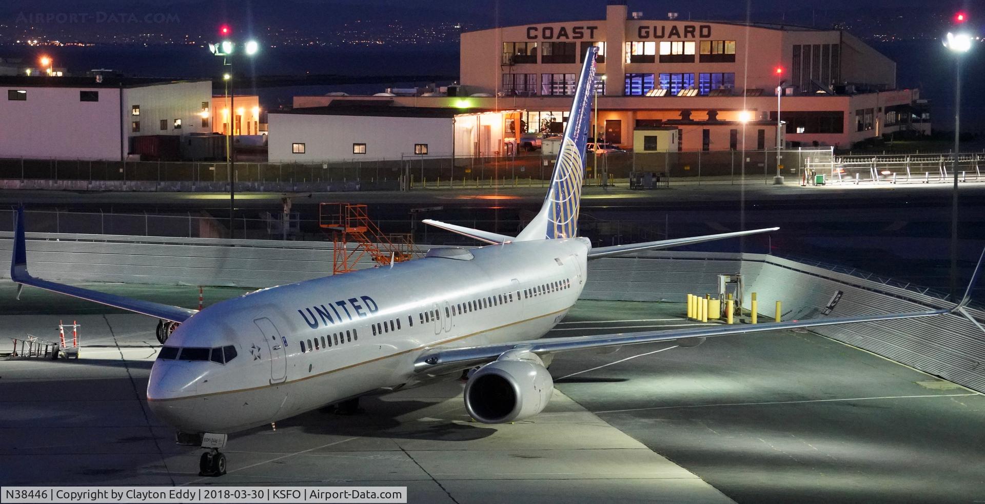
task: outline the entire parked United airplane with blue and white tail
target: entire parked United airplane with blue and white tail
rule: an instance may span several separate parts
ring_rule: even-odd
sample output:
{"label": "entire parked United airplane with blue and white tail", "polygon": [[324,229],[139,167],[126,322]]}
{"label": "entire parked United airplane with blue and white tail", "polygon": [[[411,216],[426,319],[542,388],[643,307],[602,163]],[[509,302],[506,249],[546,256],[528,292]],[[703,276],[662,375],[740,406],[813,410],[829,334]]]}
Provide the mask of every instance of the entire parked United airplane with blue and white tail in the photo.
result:
{"label": "entire parked United airplane with blue and white tail", "polygon": [[597,48],[589,51],[548,195],[517,236],[426,221],[487,245],[432,248],[421,260],[264,288],[197,311],[33,278],[21,209],[11,278],[21,288],[89,299],[176,327],[151,369],[147,401],[179,434],[201,436],[205,475],[226,473],[219,449],[230,432],[381,390],[454,379],[465,370],[474,369],[465,386],[468,413],[503,423],[547,406],[554,390],[547,368],[559,352],[666,341],[694,347],[708,337],[942,315],[968,302],[965,295],[950,310],[541,340],[578,299],[589,260],[777,229],[600,248],[579,237]]}

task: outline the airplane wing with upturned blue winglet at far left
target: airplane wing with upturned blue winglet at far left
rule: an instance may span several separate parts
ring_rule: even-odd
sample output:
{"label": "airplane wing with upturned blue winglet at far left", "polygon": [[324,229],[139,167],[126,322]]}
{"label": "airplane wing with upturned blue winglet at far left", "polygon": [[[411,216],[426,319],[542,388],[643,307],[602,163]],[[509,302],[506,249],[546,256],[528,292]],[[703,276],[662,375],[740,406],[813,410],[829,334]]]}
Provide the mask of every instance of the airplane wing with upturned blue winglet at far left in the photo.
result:
{"label": "airplane wing with upturned blue winglet at far left", "polygon": [[[172,322],[184,322],[188,317],[198,313],[198,310],[182,308],[180,306],[143,301],[121,295],[107,294],[105,292],[99,292],[99,290],[35,279],[28,273],[27,240],[24,235],[24,208],[20,208],[17,211],[17,226],[14,229],[14,254],[11,258],[10,278],[14,282],[21,284],[22,288],[23,285],[31,285]],[[18,297],[20,297],[20,290],[18,290]]]}

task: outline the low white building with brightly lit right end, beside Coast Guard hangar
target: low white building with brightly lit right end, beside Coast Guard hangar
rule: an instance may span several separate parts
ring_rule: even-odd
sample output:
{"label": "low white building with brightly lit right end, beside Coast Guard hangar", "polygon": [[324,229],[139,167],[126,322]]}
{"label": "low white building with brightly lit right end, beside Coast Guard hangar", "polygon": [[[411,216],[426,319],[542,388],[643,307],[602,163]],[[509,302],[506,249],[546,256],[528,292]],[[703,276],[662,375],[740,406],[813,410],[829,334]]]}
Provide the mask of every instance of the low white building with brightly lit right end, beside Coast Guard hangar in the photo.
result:
{"label": "low white building with brightly lit right end, beside Coast Guard hangar", "polygon": [[[367,104],[368,103],[368,104]],[[268,112],[271,162],[496,157],[515,110],[392,106],[341,100],[330,106]]]}

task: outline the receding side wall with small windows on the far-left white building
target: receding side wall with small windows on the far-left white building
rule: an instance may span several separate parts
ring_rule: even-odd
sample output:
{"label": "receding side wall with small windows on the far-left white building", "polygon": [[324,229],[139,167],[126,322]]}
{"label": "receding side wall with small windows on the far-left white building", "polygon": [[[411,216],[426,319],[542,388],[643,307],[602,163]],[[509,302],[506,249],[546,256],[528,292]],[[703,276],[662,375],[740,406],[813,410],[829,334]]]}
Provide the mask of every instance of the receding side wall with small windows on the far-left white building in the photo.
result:
{"label": "receding side wall with small windows on the far-left white building", "polygon": [[[211,133],[202,127],[202,103],[212,106],[212,82],[174,82],[123,90],[124,146],[129,137],[143,135],[187,135]],[[140,115],[133,115],[133,105],[140,105]],[[210,111],[211,113],[211,111]],[[174,129],[174,119],[181,119],[181,128]],[[165,128],[161,128],[164,120]],[[140,131],[132,131],[133,121],[140,121]]]}

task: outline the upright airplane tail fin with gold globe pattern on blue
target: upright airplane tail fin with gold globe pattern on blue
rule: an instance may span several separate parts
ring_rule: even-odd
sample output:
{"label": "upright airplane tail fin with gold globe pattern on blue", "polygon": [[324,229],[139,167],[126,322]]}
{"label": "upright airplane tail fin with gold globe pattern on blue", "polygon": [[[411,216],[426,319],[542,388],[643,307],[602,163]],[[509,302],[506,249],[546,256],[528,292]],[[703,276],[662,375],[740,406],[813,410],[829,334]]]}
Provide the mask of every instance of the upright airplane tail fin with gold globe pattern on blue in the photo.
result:
{"label": "upright airplane tail fin with gold globe pattern on blue", "polygon": [[585,175],[585,144],[591,123],[595,56],[598,51],[598,47],[589,47],[585,55],[544,206],[516,237],[517,241],[571,238],[578,235],[581,182]]}

